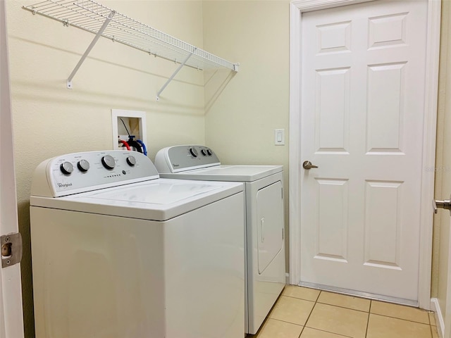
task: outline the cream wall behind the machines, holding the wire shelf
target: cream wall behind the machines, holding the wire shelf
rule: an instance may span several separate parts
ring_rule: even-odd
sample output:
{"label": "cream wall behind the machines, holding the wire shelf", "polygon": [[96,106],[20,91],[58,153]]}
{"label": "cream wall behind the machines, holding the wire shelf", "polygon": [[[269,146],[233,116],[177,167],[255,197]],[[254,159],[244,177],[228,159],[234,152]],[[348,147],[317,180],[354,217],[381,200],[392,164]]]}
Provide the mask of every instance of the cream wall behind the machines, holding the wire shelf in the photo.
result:
{"label": "cream wall behind the machines, holding the wire shelf", "polygon": [[[26,337],[34,337],[29,196],[36,166],[58,154],[112,149],[111,108],[147,112],[152,159],[163,146],[203,144],[205,130],[201,71],[184,68],[156,101],[177,65],[108,39],[99,39],[66,89],[94,35],[21,8],[38,2],[6,1]],[[101,3],[202,48],[202,1]]]}

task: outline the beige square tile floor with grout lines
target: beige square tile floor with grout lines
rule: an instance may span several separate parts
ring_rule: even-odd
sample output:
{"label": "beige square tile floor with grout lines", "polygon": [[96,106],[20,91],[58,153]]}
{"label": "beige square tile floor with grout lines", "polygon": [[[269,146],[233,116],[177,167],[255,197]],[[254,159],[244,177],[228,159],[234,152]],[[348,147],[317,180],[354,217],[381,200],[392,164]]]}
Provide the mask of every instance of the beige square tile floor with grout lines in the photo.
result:
{"label": "beige square tile floor with grout lines", "polygon": [[288,285],[254,338],[438,338],[434,313]]}

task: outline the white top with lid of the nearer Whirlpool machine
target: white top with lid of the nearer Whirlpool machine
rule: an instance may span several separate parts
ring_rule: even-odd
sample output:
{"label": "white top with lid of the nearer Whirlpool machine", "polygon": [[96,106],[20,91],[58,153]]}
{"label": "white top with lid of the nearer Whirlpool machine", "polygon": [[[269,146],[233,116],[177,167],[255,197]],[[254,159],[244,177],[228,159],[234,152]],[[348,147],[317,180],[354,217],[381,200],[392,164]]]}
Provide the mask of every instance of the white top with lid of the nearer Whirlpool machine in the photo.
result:
{"label": "white top with lid of the nearer Whirlpool machine", "polygon": [[53,199],[31,196],[30,205],[162,221],[242,191],[234,182],[156,179]]}

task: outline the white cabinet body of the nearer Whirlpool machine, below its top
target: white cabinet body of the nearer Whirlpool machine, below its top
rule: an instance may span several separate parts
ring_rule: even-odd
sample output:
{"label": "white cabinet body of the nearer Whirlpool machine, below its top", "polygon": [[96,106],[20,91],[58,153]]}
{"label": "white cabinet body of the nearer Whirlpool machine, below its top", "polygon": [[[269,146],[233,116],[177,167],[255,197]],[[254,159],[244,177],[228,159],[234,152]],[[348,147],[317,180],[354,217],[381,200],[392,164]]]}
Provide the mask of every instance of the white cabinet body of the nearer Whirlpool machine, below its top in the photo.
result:
{"label": "white cabinet body of the nearer Whirlpool machine, below its top", "polygon": [[164,222],[32,206],[36,337],[244,337],[242,199]]}

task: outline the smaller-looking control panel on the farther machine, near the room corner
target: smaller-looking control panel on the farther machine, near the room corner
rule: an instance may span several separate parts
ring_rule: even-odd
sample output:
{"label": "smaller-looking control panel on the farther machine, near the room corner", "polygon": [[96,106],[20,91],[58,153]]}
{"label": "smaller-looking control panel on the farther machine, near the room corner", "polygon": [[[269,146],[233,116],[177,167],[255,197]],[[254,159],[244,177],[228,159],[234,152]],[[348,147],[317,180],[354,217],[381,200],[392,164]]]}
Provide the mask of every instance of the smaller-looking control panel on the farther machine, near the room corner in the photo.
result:
{"label": "smaller-looking control panel on the farther machine, near the room corner", "polygon": [[221,162],[208,146],[168,146],[156,153],[155,157],[155,166],[159,173],[179,173],[214,165],[221,165]]}

